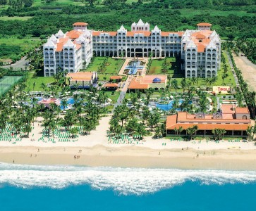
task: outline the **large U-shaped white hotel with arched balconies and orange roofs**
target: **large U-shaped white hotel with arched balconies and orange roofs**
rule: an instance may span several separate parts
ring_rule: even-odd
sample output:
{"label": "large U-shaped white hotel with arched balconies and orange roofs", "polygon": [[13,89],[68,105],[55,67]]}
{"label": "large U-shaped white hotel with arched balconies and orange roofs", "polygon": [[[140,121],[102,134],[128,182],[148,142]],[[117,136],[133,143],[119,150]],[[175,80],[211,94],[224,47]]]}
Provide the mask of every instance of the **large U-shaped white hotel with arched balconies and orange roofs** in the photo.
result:
{"label": "large U-shaped white hotel with arched balconies and orange roofs", "polygon": [[44,76],[56,72],[79,72],[92,56],[163,58],[181,56],[185,77],[214,77],[221,65],[219,34],[211,24],[199,23],[197,30],[161,32],[149,23],[121,26],[117,32],[88,30],[87,23],[74,23],[65,34],[59,30],[44,44]]}

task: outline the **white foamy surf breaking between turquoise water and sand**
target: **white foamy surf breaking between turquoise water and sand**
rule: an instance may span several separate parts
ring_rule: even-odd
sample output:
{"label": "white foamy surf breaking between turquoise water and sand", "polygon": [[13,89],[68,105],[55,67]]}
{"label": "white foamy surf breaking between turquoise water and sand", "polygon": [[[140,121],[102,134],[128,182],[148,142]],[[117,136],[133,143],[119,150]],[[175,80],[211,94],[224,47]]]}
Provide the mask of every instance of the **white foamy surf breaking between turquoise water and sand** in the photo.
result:
{"label": "white foamy surf breaking between turquoise water and sand", "polygon": [[20,188],[88,184],[111,189],[121,195],[154,193],[164,188],[195,181],[200,184],[248,184],[256,181],[255,171],[173,170],[114,167],[35,166],[0,163],[0,186]]}

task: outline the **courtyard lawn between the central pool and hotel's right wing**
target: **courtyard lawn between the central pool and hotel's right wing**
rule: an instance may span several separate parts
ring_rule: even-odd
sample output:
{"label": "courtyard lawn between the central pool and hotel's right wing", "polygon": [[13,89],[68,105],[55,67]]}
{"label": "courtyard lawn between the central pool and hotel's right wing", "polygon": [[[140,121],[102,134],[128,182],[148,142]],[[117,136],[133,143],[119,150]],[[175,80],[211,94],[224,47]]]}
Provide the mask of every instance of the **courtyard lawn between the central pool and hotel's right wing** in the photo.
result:
{"label": "courtyard lawn between the central pool and hotel's right wing", "polygon": [[147,74],[171,74],[173,75],[174,71],[178,69],[178,63],[176,62],[175,57],[167,58],[168,70],[167,72],[163,72],[161,70],[161,66],[164,63],[164,59],[154,59],[152,60],[152,64],[150,66],[150,70]]}

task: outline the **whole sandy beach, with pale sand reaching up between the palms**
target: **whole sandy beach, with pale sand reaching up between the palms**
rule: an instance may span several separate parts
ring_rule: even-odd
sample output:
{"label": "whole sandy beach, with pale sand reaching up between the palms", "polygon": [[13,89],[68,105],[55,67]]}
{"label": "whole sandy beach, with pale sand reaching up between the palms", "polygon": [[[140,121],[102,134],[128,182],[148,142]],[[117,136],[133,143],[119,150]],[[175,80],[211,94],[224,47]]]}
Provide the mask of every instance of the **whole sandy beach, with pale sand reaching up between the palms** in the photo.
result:
{"label": "whole sandy beach, with pale sand reaching up between the palms", "polygon": [[[109,118],[102,117],[90,135],[70,142],[37,141],[42,136],[35,122],[33,139],[0,141],[0,162],[29,165],[86,165],[160,167],[211,170],[256,170],[254,142],[170,141],[152,139],[130,143],[108,141]],[[39,120],[38,120],[39,121]],[[234,138],[235,139],[235,138]],[[76,156],[76,158],[75,158]]]}

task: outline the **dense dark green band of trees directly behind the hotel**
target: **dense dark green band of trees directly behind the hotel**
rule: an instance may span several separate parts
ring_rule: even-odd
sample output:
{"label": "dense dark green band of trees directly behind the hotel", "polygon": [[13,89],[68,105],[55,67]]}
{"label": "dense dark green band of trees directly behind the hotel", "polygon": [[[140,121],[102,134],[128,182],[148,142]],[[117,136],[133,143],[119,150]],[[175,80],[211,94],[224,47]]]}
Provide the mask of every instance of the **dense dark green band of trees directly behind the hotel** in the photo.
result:
{"label": "dense dark green band of trees directly behind the hotel", "polygon": [[[103,11],[106,8],[102,9]],[[42,12],[40,12],[42,13]],[[63,14],[64,13],[64,14]],[[74,14],[80,14],[74,15]],[[159,18],[161,17],[161,18]],[[35,37],[50,35],[60,28],[63,31],[71,30],[73,23],[85,21],[90,28],[95,30],[117,30],[121,25],[129,27],[133,21],[139,18],[149,22],[152,26],[159,25],[161,30],[185,30],[188,26],[195,28],[200,22],[212,23],[221,37],[233,39],[235,37],[256,37],[255,16],[227,15],[217,16],[205,13],[183,17],[178,10],[161,8],[137,8],[123,9],[121,11],[106,11],[103,13],[91,13],[89,7],[67,6],[61,13],[36,14],[27,21],[0,21],[0,34],[33,34]],[[184,26],[184,27],[182,27]]]}

